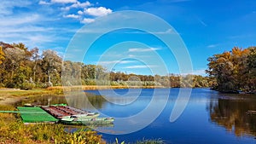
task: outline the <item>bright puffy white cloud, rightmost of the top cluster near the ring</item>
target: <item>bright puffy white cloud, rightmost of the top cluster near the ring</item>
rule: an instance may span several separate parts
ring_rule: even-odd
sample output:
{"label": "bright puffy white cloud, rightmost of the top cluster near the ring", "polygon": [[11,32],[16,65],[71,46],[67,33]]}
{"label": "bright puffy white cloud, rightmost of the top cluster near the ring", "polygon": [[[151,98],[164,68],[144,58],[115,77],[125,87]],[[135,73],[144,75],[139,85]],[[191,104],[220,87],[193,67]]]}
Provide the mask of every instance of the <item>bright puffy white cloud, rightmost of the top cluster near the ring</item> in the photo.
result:
{"label": "bright puffy white cloud, rightmost of the top cluster near the ring", "polygon": [[84,9],[84,14],[89,14],[92,16],[104,16],[111,13],[112,13],[112,10],[106,9],[105,7]]}

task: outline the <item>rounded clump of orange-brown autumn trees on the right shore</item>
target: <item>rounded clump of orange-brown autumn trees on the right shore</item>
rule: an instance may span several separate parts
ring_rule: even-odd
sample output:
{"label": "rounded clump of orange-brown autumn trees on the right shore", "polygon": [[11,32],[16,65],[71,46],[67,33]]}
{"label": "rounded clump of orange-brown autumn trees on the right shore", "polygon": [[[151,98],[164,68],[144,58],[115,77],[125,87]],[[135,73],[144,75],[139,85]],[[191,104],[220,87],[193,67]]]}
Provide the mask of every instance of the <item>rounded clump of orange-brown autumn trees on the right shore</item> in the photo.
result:
{"label": "rounded clump of orange-brown autumn trees on the right shore", "polygon": [[208,58],[207,73],[216,80],[214,89],[223,92],[255,93],[256,47],[237,47]]}

